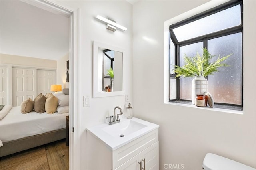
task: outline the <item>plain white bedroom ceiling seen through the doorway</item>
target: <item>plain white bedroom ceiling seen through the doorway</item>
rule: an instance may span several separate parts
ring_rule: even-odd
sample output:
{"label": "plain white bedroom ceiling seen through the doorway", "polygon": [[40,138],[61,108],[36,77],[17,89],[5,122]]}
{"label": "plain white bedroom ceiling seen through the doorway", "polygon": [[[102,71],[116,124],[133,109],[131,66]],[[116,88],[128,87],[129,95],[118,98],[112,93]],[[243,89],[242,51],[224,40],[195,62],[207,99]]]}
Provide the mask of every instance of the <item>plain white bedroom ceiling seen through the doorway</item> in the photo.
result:
{"label": "plain white bedroom ceiling seen through the doorway", "polygon": [[69,51],[69,18],[18,0],[1,0],[1,53],[58,60]]}

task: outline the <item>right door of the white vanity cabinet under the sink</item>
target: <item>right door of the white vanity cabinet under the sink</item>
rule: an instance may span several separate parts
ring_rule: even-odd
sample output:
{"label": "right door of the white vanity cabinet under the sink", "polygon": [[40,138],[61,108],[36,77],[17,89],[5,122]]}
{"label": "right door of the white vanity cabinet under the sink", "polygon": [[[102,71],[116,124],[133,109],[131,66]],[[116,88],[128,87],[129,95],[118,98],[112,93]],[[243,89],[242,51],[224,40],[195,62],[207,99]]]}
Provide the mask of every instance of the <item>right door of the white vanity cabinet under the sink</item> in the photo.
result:
{"label": "right door of the white vanity cabinet under the sink", "polygon": [[[142,152],[140,152],[140,159],[144,159],[146,162],[146,170],[159,170],[159,146],[158,141]],[[142,161],[142,167],[144,162]]]}

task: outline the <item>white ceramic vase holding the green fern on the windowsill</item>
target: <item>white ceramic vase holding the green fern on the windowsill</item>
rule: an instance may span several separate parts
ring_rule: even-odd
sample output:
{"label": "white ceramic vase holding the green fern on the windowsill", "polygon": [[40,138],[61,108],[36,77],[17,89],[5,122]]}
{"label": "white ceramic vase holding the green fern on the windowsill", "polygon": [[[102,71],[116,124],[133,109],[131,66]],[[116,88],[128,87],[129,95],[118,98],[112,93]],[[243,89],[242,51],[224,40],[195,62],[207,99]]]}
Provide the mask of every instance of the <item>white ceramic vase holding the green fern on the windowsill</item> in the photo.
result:
{"label": "white ceramic vase holding the green fern on the windowsill", "polygon": [[192,104],[195,104],[196,95],[204,94],[204,92],[208,91],[208,80],[204,76],[196,76],[192,80],[191,87],[191,101]]}

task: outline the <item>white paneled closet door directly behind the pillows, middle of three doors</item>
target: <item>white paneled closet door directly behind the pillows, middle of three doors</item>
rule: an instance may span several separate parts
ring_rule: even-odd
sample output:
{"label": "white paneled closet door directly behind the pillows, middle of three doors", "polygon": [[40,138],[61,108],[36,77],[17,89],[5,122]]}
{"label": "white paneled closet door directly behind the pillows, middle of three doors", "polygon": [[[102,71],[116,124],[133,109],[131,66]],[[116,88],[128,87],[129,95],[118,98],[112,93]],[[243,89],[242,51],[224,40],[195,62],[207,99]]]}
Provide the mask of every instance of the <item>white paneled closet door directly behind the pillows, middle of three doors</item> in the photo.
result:
{"label": "white paneled closet door directly behind the pillows, middle of three doors", "polygon": [[36,97],[36,69],[12,68],[12,105]]}

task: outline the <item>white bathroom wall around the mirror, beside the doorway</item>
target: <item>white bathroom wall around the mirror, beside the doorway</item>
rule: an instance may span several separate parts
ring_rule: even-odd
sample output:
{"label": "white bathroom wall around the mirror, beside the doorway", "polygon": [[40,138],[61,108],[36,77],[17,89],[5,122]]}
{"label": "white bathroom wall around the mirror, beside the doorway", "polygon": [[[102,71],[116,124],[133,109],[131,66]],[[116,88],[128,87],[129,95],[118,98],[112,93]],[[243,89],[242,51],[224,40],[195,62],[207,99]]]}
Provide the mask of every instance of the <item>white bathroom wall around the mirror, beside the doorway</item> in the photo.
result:
{"label": "white bathroom wall around the mirror, beside the doorway", "polygon": [[[79,58],[79,98],[80,120],[80,169],[86,169],[86,128],[105,122],[107,115],[113,115],[115,106],[125,108],[125,97],[90,98],[90,107],[83,107],[83,96],[92,97],[92,42],[107,43],[126,50],[124,72],[125,91],[132,99],[132,5],[126,1],[62,1],[74,9],[80,8],[80,58]],[[106,24],[96,20],[96,15],[109,17],[127,27],[127,31],[106,30]],[[131,100],[132,103],[132,100]],[[96,148],[95,148],[96,149]]]}

